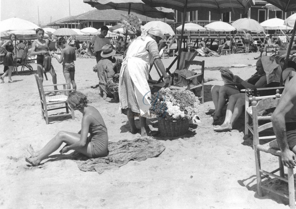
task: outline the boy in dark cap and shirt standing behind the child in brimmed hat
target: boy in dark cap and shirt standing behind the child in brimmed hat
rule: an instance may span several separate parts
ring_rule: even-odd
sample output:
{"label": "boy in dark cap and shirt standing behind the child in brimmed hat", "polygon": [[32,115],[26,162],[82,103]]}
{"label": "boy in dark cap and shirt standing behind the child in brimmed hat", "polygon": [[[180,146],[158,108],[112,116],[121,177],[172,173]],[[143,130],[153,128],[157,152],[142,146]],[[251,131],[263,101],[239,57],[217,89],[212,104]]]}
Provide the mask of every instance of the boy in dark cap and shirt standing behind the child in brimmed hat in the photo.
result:
{"label": "boy in dark cap and shirt standing behind the child in brimmed hat", "polygon": [[[108,30],[109,28],[106,25],[103,25],[101,27],[101,34],[94,36],[89,42],[89,44],[87,45],[87,48],[89,49],[89,52],[91,53],[91,55],[96,56],[96,63],[98,63],[102,58],[101,57],[102,47],[107,44],[112,45],[110,40],[108,38],[105,38],[105,36],[107,36]],[[94,44],[94,51],[95,51],[94,53],[91,51],[92,44]]]}

